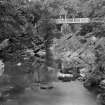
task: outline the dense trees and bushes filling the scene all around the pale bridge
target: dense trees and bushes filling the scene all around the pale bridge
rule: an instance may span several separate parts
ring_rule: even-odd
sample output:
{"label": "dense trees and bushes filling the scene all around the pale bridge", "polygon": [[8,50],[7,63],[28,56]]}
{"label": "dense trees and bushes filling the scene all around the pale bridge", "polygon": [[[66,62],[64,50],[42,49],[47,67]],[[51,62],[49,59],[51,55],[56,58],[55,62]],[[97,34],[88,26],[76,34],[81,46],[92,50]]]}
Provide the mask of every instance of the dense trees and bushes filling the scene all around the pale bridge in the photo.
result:
{"label": "dense trees and bushes filling the scene all around the pale bridge", "polygon": [[64,69],[89,69],[88,89],[92,81],[98,86],[105,79],[104,22],[65,25],[61,33],[53,21],[61,8],[68,18],[104,20],[105,0],[0,0],[0,59],[5,64],[1,83],[8,78],[10,85],[23,89],[35,82],[36,73],[49,81],[48,67],[58,61]]}

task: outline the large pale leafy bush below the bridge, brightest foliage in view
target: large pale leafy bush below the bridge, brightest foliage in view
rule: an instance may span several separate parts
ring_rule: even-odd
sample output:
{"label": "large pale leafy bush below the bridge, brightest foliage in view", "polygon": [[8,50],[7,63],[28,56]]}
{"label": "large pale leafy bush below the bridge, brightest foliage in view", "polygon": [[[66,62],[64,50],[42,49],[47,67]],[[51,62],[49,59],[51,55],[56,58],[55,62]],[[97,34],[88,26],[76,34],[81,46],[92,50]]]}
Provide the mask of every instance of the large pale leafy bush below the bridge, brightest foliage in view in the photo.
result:
{"label": "large pale leafy bush below the bridge, brightest foliage in view", "polygon": [[[65,68],[70,67],[88,67],[95,63],[94,47],[86,39],[85,43],[81,42],[81,37],[68,34],[60,39],[54,40],[53,54],[55,59],[61,59]],[[91,47],[90,47],[91,46]]]}

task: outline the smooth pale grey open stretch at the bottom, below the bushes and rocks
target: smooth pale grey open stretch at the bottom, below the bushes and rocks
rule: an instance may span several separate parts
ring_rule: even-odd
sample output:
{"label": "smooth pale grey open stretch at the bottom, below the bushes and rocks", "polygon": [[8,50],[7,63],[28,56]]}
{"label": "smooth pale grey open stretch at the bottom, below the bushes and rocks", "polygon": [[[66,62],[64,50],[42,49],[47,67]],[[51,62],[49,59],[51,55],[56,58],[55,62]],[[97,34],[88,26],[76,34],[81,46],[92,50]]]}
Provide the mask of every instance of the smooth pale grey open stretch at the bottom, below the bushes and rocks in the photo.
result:
{"label": "smooth pale grey open stretch at the bottom, below the bushes and rocks", "polygon": [[[56,82],[52,90],[27,91],[21,97],[19,105],[97,105],[95,97],[82,83]],[[8,104],[10,105],[10,104]]]}

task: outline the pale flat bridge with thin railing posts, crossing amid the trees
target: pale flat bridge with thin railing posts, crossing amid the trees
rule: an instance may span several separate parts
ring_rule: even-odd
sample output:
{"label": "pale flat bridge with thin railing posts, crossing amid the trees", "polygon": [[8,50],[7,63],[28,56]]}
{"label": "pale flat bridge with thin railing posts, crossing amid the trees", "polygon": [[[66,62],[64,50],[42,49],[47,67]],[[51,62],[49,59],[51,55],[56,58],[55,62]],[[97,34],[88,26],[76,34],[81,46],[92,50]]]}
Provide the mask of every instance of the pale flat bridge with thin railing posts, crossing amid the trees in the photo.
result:
{"label": "pale flat bridge with thin railing posts, crossing amid the trees", "polygon": [[66,16],[60,16],[60,18],[54,21],[61,32],[63,32],[63,26],[68,27],[68,25],[70,26],[71,24],[105,23],[104,18],[67,18]]}

